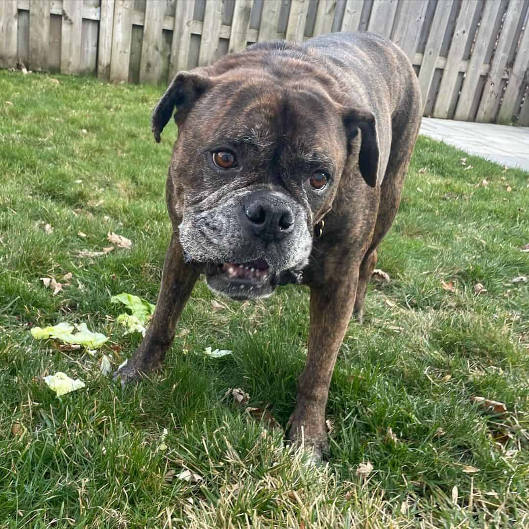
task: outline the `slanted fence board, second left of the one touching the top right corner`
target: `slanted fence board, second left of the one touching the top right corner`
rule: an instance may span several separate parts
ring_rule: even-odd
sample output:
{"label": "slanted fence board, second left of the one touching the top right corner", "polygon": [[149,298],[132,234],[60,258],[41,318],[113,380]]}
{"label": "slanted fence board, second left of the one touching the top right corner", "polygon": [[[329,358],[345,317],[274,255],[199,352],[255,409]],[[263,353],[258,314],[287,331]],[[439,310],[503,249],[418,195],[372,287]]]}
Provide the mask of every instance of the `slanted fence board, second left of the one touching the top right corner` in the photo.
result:
{"label": "slanted fence board, second left of the one touching the top right corner", "polygon": [[435,100],[433,115],[435,118],[448,118],[450,109],[457,96],[455,92],[458,83],[459,64],[463,59],[464,49],[469,38],[469,30],[472,26],[479,3],[476,0],[467,0],[461,5],[455,31],[452,35],[448,57],[446,57],[446,68],[441,79],[439,94]]}

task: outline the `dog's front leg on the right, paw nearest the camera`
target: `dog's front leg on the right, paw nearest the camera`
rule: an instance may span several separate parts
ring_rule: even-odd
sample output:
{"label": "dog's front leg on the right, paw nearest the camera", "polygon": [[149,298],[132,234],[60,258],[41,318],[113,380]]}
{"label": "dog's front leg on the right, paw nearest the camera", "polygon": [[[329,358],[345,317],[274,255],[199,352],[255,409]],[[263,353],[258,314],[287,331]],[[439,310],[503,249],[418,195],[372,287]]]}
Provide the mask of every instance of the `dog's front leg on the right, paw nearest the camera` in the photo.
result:
{"label": "dog's front leg on the right, paw nearest the camera", "polygon": [[358,273],[358,265],[351,266],[331,283],[311,287],[308,354],[290,417],[290,440],[313,448],[317,459],[329,450],[325,405],[338,349],[353,312]]}

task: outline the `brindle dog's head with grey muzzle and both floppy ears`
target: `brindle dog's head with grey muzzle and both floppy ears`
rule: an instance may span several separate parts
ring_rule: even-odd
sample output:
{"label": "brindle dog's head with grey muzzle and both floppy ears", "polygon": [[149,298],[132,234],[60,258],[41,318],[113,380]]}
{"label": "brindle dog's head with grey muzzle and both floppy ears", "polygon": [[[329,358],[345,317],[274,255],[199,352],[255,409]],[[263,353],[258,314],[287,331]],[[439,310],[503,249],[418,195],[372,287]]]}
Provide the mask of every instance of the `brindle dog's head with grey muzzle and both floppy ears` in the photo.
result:
{"label": "brindle dog's head with grey muzzle and both floppy ears", "polygon": [[169,209],[186,257],[230,298],[266,297],[299,275],[351,156],[377,183],[373,115],[336,103],[317,82],[282,83],[248,67],[179,73],[154,109],[157,141],[175,107]]}

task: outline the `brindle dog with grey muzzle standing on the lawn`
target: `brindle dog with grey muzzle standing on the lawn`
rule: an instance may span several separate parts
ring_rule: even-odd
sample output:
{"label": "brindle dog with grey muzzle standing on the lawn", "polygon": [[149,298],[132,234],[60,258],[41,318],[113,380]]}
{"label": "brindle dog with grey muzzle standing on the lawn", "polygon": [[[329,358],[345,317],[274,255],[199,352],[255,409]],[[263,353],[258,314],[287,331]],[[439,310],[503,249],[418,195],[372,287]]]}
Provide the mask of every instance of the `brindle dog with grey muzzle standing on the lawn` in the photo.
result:
{"label": "brindle dog with grey muzzle standing on the lawn", "polygon": [[321,458],[338,349],[351,316],[362,321],[419,130],[415,71],[372,33],[270,41],[178,73],[152,114],[157,142],[175,109],[160,293],[116,376],[126,383],[161,366],[200,274],[235,300],[307,285],[308,354],[289,438]]}

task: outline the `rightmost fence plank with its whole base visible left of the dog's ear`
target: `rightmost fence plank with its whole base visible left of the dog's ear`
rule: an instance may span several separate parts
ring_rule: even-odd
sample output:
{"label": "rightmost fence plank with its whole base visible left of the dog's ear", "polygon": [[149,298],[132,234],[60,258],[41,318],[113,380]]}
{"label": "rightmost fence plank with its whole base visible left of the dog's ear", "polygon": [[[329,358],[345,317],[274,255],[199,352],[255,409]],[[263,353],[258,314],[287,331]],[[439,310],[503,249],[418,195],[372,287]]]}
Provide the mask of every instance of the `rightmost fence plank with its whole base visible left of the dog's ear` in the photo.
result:
{"label": "rightmost fence plank with its whole base visible left of the dog's ear", "polygon": [[161,82],[160,74],[163,59],[160,50],[165,7],[165,3],[158,2],[147,2],[145,5],[140,83],[157,85]]}

